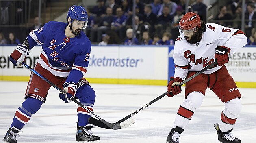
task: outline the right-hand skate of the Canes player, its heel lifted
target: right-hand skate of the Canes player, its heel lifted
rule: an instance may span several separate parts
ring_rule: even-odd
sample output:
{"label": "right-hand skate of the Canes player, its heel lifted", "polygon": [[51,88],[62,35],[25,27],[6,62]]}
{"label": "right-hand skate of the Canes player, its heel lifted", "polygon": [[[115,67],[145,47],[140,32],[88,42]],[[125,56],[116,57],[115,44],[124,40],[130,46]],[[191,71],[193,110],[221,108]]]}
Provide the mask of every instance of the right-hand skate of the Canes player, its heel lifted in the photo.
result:
{"label": "right-hand skate of the Canes player, its heel lifted", "polygon": [[233,134],[230,133],[232,132],[233,128],[228,132],[221,132],[218,123],[214,124],[214,127],[217,130],[218,139],[221,143],[241,143],[240,139],[233,137]]}

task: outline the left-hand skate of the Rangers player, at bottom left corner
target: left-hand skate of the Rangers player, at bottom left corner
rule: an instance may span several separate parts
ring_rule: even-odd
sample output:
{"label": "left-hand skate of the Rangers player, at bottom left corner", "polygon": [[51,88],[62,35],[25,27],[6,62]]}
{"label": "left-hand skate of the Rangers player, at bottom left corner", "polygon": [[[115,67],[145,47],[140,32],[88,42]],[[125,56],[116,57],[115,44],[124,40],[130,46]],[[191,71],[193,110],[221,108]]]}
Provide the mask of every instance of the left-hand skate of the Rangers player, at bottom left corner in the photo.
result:
{"label": "left-hand skate of the Rangers player, at bottom left corner", "polygon": [[17,143],[17,136],[20,137],[18,134],[19,132],[22,131],[15,128],[14,126],[9,128],[6,135],[4,136],[4,143]]}

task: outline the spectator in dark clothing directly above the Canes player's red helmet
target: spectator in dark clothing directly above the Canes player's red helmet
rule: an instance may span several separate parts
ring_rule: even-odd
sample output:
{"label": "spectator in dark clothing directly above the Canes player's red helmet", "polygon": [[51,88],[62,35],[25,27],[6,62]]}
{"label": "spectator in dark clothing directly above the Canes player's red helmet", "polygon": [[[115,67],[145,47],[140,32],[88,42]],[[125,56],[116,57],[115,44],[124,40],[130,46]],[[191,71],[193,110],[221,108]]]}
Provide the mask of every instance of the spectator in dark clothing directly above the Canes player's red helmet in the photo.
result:
{"label": "spectator in dark clothing directly above the Canes player's red helmet", "polygon": [[192,6],[192,12],[197,13],[202,21],[206,21],[206,8],[203,0],[196,0],[196,4]]}

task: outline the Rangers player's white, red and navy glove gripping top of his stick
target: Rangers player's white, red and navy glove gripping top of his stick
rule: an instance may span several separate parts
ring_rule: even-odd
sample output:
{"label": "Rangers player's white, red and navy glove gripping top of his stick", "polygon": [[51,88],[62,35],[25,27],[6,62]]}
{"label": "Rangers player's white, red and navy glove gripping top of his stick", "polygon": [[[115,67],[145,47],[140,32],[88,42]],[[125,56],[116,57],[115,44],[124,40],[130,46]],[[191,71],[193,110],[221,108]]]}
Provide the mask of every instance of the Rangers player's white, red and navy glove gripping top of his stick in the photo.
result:
{"label": "Rangers player's white, red and navy glove gripping top of his stick", "polygon": [[22,67],[22,62],[26,61],[29,55],[29,49],[25,45],[17,45],[17,48],[11,53],[10,61],[17,65],[17,67]]}

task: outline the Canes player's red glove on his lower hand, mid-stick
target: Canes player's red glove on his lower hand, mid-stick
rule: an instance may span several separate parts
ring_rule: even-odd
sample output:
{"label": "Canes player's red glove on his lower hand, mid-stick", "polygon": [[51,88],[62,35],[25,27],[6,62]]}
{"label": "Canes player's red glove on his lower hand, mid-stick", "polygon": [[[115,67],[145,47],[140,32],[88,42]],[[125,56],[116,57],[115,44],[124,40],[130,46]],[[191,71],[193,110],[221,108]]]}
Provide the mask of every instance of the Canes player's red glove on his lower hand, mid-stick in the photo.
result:
{"label": "Canes player's red glove on his lower hand, mid-stick", "polygon": [[173,97],[174,95],[181,93],[181,86],[178,86],[180,82],[183,82],[182,78],[179,78],[179,77],[174,78],[173,76],[170,78],[170,82],[167,85],[167,88],[168,88],[167,96]]}

